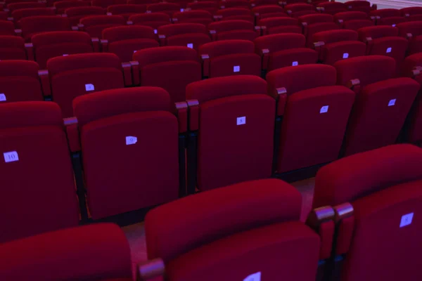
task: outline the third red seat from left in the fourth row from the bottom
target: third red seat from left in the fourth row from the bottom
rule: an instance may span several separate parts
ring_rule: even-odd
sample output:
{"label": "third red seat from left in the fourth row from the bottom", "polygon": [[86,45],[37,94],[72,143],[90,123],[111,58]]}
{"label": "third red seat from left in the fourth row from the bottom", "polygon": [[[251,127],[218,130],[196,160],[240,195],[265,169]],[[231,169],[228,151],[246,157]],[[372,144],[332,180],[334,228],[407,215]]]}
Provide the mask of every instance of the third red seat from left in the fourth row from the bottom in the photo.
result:
{"label": "third red seat from left in the fourth row from the bottom", "polygon": [[138,50],[160,46],[153,28],[141,25],[109,27],[103,30],[102,37],[108,41],[106,51],[115,53],[122,62],[131,61]]}

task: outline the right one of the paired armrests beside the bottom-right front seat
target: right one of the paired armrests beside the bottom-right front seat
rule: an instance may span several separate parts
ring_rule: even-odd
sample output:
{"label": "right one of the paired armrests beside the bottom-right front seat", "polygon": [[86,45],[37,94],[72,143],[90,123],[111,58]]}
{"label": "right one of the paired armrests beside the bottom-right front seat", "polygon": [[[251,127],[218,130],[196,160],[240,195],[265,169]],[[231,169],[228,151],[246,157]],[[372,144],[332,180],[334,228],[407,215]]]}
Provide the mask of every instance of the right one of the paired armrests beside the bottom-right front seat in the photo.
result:
{"label": "right one of the paired armrests beside the bottom-right front seat", "polygon": [[334,222],[337,228],[335,254],[346,254],[350,249],[354,230],[354,210],[350,203],[334,207]]}

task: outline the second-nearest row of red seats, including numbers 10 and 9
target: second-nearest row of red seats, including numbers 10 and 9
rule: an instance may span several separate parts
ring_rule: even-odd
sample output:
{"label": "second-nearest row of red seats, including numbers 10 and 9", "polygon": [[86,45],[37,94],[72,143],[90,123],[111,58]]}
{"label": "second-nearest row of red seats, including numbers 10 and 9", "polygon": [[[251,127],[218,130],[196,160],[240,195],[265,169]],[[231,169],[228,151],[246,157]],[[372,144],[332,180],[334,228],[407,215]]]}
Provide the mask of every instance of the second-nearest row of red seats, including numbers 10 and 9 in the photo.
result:
{"label": "second-nearest row of red seats, including numbers 10 and 9", "polygon": [[[1,104],[8,122],[1,126],[0,171],[4,186],[13,186],[1,206],[19,211],[4,218],[9,231],[0,240],[77,225],[69,148],[79,209],[86,218],[86,186],[96,220],[196,188],[269,178],[393,144],[412,104],[407,124],[421,136],[421,98],[414,103],[420,86],[392,78],[392,58],[351,58],[335,67],[337,73],[329,65],[285,67],[270,72],[268,83],[253,76],[196,81],[176,108],[155,87],[91,93],[75,98],[76,118],[65,119],[65,127],[55,103]],[[352,89],[342,86],[350,82]]]}

